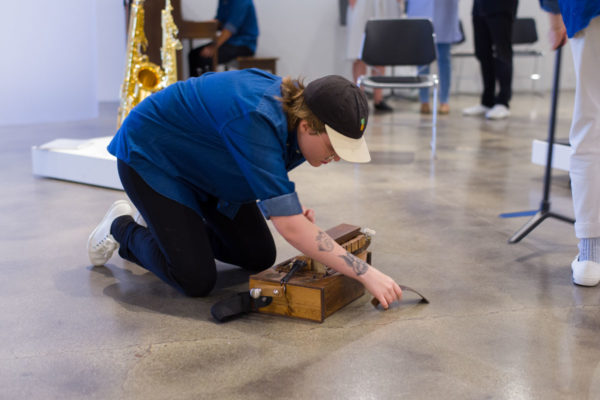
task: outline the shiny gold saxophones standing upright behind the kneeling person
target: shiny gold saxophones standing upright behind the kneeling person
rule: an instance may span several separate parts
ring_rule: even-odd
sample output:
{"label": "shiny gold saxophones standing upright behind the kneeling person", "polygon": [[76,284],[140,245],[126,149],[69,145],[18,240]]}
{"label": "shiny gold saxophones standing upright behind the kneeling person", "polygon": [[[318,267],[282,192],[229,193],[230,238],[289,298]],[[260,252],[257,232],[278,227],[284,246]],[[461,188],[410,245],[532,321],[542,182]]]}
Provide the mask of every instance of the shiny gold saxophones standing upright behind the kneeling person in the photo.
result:
{"label": "shiny gold saxophones standing upright behind the kneeling person", "polygon": [[117,119],[117,129],[131,109],[154,92],[177,82],[176,52],[181,49],[177,39],[177,26],[173,21],[171,0],[165,0],[161,12],[162,47],[160,49],[162,69],[150,62],[144,54],[148,39],[144,33],[144,1],[134,0],[129,16],[127,35],[127,60],[125,79],[121,85],[121,104]]}

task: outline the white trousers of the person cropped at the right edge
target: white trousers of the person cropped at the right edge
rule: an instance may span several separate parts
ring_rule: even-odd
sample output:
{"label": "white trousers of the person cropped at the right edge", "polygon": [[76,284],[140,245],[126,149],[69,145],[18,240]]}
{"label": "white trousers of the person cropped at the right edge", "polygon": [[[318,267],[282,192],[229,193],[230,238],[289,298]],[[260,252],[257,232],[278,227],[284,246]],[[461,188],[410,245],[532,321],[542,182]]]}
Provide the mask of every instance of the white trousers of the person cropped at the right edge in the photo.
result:
{"label": "white trousers of the person cropped at the right edge", "polygon": [[570,176],[575,235],[600,237],[600,17],[570,40],[577,85]]}

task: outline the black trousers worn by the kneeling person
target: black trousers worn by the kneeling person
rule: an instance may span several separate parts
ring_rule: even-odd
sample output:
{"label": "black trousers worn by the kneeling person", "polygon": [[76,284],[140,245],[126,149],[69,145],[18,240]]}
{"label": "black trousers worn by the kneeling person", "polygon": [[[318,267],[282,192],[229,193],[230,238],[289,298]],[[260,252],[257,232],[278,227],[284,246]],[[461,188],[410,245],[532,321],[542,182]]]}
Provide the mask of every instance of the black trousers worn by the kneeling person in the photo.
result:
{"label": "black trousers worn by the kneeling person", "polygon": [[129,216],[117,218],[111,233],[119,255],[153,272],[188,296],[206,296],[216,282],[215,259],[252,272],[275,262],[273,236],[255,202],[244,204],[234,219],[217,210],[214,197],[200,203],[202,216],[154,191],[121,160],[125,192],[148,228]]}

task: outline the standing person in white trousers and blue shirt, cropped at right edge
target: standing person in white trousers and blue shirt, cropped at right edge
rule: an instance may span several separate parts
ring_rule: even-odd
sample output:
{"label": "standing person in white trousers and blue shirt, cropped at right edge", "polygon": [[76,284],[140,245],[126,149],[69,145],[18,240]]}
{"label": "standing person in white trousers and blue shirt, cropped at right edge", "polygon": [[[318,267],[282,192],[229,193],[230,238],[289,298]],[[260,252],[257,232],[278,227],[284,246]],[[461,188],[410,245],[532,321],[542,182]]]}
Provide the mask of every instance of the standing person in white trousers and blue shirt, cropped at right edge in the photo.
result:
{"label": "standing person in white trousers and blue shirt, cropped at right edge", "polygon": [[576,86],[569,176],[579,254],[571,269],[577,285],[596,286],[600,283],[600,1],[540,3],[550,13],[552,48],[564,45],[568,36],[573,53]]}

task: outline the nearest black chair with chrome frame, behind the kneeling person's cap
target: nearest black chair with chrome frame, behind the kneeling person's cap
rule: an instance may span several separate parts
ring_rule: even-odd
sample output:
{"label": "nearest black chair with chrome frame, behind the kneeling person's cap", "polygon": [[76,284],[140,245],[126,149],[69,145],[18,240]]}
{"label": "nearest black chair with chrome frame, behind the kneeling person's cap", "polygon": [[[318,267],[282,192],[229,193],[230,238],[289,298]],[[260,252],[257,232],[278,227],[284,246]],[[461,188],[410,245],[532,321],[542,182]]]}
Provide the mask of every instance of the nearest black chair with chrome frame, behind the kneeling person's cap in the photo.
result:
{"label": "nearest black chair with chrome frame, behind the kneeling person's cap", "polygon": [[[431,20],[421,18],[371,19],[365,28],[361,59],[371,66],[420,66],[437,59]],[[435,157],[437,136],[437,88],[435,74],[410,76],[367,76],[359,87],[372,89],[433,88],[431,156]]]}

